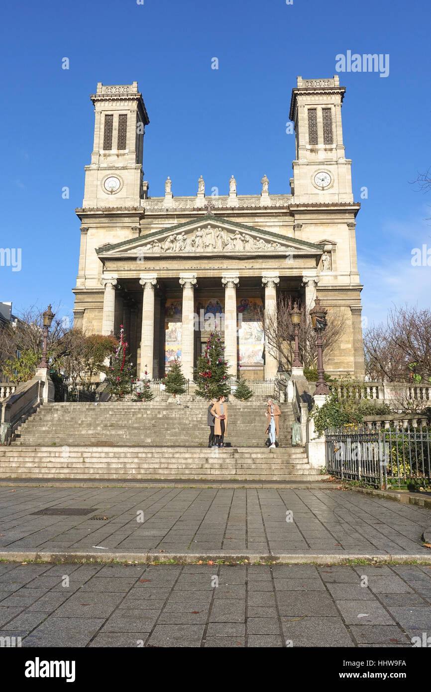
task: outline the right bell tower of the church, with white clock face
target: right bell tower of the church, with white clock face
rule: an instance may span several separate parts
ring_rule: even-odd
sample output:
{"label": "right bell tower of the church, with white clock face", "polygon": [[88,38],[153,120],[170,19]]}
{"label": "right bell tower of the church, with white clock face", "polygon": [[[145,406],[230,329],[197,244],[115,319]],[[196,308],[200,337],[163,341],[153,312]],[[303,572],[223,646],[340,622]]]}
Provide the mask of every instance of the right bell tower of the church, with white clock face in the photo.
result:
{"label": "right bell tower of the church, with white clock face", "polygon": [[295,127],[292,194],[295,203],[352,202],[351,159],[342,143],[340,78],[303,80],[292,90]]}

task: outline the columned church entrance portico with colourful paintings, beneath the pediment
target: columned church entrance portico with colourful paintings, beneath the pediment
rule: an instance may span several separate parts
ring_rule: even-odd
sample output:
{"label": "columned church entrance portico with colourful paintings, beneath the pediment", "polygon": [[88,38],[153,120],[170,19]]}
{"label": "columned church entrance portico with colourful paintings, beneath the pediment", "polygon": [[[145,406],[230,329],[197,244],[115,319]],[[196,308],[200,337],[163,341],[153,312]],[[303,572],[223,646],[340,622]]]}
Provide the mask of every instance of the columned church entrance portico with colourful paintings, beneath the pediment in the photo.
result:
{"label": "columned church entrance portico with colourful paintings, beneath the pediment", "polygon": [[103,275],[101,283],[104,334],[116,334],[123,325],[138,374],[161,379],[178,359],[190,380],[214,330],[221,334],[233,377],[241,369],[247,379],[275,378],[277,354],[266,343],[265,320],[276,315],[279,291],[305,301],[311,288],[303,276],[277,271],[245,277],[239,271],[212,277],[147,272],[133,279]]}

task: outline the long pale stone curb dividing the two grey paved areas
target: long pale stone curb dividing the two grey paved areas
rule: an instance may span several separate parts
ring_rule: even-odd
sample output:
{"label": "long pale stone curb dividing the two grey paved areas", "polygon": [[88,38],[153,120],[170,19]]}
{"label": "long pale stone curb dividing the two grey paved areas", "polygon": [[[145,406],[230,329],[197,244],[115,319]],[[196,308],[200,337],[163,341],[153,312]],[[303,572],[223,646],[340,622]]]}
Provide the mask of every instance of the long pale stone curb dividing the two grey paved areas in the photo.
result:
{"label": "long pale stone curb dividing the two grey paved areas", "polygon": [[318,563],[322,565],[340,565],[347,561],[363,560],[374,564],[379,563],[410,563],[423,562],[431,564],[431,551],[418,554],[388,554],[388,553],[335,553],[335,554],[300,554],[300,553],[284,553],[278,555],[259,554],[259,553],[234,553],[214,551],[211,553],[159,553],[159,552],[122,552],[120,550],[111,550],[110,552],[65,552],[65,551],[0,551],[0,560],[8,562],[26,562],[39,561],[46,563],[72,563],[72,562],[102,562],[110,563],[131,562],[131,563],[186,563],[193,565],[199,562],[206,563],[208,561],[223,560],[226,562],[248,561],[248,563],[278,563],[289,565],[302,565],[309,563]]}

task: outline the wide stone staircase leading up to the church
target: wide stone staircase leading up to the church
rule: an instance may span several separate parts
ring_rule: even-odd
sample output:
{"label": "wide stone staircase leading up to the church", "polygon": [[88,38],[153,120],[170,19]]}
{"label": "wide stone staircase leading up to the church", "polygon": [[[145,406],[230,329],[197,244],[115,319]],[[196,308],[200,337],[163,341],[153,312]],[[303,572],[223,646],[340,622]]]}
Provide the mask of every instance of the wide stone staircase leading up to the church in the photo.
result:
{"label": "wide stone staircase leading up to the church", "polygon": [[264,403],[228,406],[228,446],[218,450],[208,448],[202,401],[46,403],[0,447],[0,479],[322,480],[291,446],[290,404],[279,404],[276,449],[265,446]]}

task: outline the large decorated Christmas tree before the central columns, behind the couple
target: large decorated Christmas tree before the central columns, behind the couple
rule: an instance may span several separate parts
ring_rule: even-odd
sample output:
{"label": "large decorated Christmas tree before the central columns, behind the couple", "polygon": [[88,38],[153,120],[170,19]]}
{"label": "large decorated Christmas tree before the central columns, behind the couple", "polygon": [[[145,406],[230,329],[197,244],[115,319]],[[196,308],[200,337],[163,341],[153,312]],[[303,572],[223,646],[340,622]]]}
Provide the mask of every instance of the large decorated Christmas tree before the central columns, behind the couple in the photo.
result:
{"label": "large decorated Christmas tree before the central columns, behind the couple", "polygon": [[205,354],[198,358],[194,381],[196,394],[203,399],[226,397],[230,393],[228,363],[224,359],[224,346],[218,331],[210,334]]}

